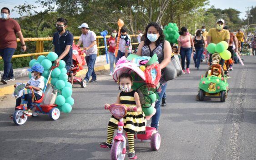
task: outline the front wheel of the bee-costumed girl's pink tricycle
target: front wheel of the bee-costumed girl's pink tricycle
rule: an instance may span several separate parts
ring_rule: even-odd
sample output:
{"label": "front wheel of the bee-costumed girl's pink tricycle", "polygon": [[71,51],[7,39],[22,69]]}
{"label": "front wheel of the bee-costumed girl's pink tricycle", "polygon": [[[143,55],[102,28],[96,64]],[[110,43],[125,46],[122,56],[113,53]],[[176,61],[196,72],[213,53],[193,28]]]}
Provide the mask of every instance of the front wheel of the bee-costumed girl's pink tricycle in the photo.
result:
{"label": "front wheel of the bee-costumed girl's pink tricycle", "polygon": [[110,155],[111,155],[111,160],[124,160],[125,159],[125,154],[122,154],[123,151],[123,141],[113,141],[111,150],[110,150]]}

